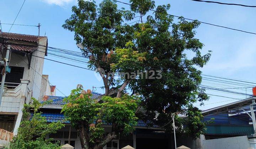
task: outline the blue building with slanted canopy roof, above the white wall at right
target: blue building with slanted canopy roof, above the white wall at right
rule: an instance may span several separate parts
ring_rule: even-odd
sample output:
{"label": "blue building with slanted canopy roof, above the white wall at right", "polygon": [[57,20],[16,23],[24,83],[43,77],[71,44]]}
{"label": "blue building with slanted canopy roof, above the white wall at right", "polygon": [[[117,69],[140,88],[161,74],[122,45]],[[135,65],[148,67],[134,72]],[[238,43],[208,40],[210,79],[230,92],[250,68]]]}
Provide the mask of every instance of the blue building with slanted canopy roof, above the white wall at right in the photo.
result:
{"label": "blue building with slanted canopy roof, above the white wall at right", "polygon": [[[255,99],[256,97],[250,97],[202,111],[204,121],[208,121],[210,118],[215,119],[212,124],[207,125],[205,138],[217,139],[253,134],[254,128],[249,116],[251,114],[249,105]],[[256,105],[254,105],[254,110],[255,108]]]}

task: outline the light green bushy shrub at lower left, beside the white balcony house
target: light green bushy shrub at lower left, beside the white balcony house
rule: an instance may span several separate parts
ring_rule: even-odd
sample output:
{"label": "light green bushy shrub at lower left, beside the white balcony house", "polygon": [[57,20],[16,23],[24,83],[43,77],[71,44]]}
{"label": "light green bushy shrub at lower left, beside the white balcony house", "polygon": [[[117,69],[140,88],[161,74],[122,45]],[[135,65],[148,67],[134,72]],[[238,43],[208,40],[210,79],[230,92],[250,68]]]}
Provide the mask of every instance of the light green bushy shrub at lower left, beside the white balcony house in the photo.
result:
{"label": "light green bushy shrub at lower left, beside the white balcony house", "polygon": [[[41,116],[39,108],[48,102],[39,103],[35,98],[32,98],[32,104],[24,105],[23,118],[21,125],[18,128],[17,136],[14,136],[10,144],[11,149],[58,149],[59,144],[51,143],[50,139],[45,140],[46,134],[56,133],[65,125],[61,122],[47,123],[46,118]],[[29,110],[32,109],[33,117]]]}

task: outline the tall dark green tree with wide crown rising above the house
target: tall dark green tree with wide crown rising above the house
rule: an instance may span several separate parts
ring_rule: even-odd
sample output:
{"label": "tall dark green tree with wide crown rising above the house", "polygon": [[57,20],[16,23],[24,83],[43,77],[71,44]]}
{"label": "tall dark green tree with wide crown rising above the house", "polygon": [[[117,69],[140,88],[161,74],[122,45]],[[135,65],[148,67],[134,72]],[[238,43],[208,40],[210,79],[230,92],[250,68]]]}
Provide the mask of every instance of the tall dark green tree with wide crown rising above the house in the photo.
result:
{"label": "tall dark green tree with wide crown rising above the house", "polygon": [[[199,121],[189,114],[193,103],[203,104],[209,98],[200,87],[200,68],[211,55],[211,51],[201,54],[204,45],[195,38],[200,23],[183,17],[175,23],[174,16],[167,14],[170,4],[155,6],[153,0],[130,0],[130,4],[130,10],[118,9],[114,1],[103,0],[97,8],[95,1],[79,0],[63,27],[74,32],[76,43],[84,46],[81,50],[90,58],[89,68],[102,76],[106,96],[113,89],[118,89],[117,98],[127,89],[132,95],[139,94],[143,102],[137,115],[165,126],[166,131],[172,131],[165,124],[178,111],[187,115],[187,121],[176,116],[182,122],[178,129],[185,122],[186,126],[205,126],[199,109],[192,108]],[[149,14],[151,9],[156,10],[153,15]],[[127,75],[120,75],[122,72]],[[144,113],[140,113],[140,107]],[[196,138],[204,127],[198,129],[182,130]]]}

